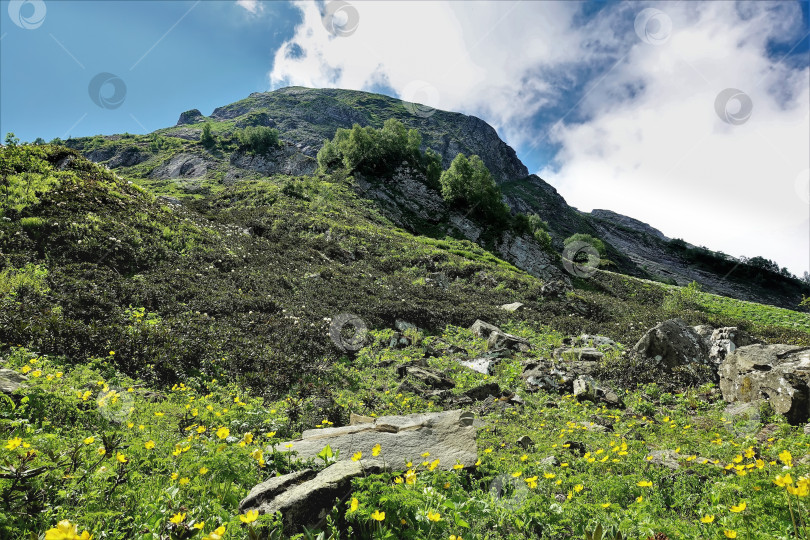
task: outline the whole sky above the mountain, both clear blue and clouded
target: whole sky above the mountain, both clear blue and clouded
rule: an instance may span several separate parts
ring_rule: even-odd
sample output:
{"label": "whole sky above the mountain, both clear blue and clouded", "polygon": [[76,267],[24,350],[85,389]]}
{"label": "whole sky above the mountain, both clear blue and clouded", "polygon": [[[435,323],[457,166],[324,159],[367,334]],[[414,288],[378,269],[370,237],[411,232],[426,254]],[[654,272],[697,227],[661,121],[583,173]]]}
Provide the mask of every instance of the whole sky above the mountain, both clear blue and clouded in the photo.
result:
{"label": "whole sky above the mountain, both clear blue and clouded", "polygon": [[[23,140],[145,133],[290,84],[379,91],[484,118],[583,211],[810,270],[807,1],[0,8],[0,132]],[[91,99],[102,73],[120,106]]]}

